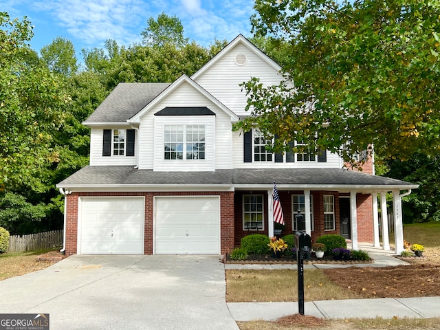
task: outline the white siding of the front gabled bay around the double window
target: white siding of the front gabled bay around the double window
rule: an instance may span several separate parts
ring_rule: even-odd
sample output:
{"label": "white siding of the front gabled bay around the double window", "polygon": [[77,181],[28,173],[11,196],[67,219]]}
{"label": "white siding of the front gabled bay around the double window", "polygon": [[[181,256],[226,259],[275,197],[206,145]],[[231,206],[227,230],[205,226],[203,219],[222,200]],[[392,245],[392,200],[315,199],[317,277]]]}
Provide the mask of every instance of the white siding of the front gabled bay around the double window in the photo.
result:
{"label": "white siding of the front gabled bay around the double window", "polygon": [[[215,115],[155,116],[164,107],[208,107]],[[206,158],[200,160],[165,160],[165,124],[205,124]],[[166,100],[146,113],[140,124],[141,169],[153,170],[215,170],[231,168],[232,123],[230,115],[219,109],[189,84],[182,84]]]}

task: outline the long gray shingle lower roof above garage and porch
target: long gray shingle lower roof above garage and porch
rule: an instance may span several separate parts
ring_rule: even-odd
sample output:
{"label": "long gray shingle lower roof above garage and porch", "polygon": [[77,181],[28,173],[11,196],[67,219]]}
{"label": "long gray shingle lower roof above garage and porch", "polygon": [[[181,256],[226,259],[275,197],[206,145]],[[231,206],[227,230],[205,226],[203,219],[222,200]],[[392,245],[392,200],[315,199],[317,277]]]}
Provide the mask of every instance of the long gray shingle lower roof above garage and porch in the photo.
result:
{"label": "long gray shingle lower roof above garage and porch", "polygon": [[153,172],[137,170],[133,166],[86,166],[61,181],[58,186],[72,188],[80,186],[160,186],[164,185],[230,185],[243,186],[272,185],[287,186],[378,186],[416,188],[406,181],[378,177],[340,168],[268,168],[230,169],[214,172]]}

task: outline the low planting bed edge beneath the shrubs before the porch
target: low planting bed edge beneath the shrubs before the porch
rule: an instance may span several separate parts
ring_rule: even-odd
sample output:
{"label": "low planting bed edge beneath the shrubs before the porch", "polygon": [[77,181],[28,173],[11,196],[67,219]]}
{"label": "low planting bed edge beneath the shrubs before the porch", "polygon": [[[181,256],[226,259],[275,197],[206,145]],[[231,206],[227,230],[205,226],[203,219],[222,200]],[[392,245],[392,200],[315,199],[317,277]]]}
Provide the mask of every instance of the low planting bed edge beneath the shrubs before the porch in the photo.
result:
{"label": "low planting bed edge beneath the shrubs before the porch", "polygon": [[[238,264],[238,265],[246,265],[246,264],[281,264],[281,265],[296,265],[298,262],[296,259],[292,258],[292,256],[280,256],[275,257],[271,256],[269,254],[250,254],[248,256],[248,259],[246,260],[233,260],[230,257],[230,254],[225,254],[224,257],[224,263],[229,264]],[[310,260],[305,260],[305,265],[313,265],[314,263],[329,263],[329,264],[340,264],[340,265],[347,265],[347,264],[358,264],[358,263],[373,263],[373,259],[370,261],[357,261],[357,260],[348,260],[348,261],[340,261],[340,260],[333,260],[332,256],[324,256],[324,258],[316,258],[315,256],[311,256]]]}

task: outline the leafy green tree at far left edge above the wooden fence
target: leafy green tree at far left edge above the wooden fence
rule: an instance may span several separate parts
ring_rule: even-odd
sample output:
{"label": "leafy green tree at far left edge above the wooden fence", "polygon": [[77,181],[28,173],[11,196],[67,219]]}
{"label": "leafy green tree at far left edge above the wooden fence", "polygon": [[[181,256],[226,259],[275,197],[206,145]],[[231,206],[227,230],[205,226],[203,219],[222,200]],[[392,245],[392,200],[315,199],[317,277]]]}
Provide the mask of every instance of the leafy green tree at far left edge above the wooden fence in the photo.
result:
{"label": "leafy green tree at far left edge above the wooden fence", "polygon": [[61,81],[33,65],[30,22],[0,13],[0,190],[44,192],[59,161],[52,133],[64,120]]}

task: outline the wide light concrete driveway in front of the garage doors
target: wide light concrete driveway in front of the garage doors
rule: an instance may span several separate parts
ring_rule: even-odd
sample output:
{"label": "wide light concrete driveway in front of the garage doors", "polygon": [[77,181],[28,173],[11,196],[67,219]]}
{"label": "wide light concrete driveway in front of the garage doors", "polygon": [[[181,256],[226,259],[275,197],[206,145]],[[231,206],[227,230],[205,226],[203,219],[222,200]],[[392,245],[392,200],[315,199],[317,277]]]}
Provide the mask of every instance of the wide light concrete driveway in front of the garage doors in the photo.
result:
{"label": "wide light concrete driveway in front of the garage doors", "polygon": [[0,281],[0,313],[50,314],[50,329],[239,329],[219,256],[69,256]]}

